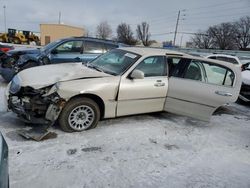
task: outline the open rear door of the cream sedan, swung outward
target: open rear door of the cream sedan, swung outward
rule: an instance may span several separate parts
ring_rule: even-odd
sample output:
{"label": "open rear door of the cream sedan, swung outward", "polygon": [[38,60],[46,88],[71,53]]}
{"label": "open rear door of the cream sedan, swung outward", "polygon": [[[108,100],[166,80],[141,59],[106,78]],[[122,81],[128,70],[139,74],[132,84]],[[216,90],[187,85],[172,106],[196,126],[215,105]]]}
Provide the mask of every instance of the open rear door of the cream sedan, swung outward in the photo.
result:
{"label": "open rear door of the cream sedan, swung outward", "polygon": [[195,59],[169,59],[178,63],[169,78],[165,111],[207,121],[218,107],[237,99],[241,80],[236,67],[229,69]]}

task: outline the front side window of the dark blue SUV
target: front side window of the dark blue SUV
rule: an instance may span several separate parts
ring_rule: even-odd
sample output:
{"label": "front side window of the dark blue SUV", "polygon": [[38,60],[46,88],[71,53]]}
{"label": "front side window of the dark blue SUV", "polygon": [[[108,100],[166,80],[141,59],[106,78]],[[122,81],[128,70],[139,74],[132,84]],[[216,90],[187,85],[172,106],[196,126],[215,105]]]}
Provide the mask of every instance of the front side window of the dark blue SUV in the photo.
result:
{"label": "front side window of the dark blue SUV", "polygon": [[68,41],[56,48],[58,53],[80,53],[82,50],[82,41]]}

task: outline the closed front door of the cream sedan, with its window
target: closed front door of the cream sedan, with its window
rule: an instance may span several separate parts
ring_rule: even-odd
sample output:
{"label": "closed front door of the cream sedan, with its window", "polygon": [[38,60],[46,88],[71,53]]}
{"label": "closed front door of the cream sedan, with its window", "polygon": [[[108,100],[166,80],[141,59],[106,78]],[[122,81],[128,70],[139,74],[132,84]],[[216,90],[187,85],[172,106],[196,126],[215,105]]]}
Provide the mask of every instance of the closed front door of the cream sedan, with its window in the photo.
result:
{"label": "closed front door of the cream sedan, with its window", "polygon": [[164,108],[168,90],[166,58],[148,57],[135,69],[141,70],[144,78],[121,78],[117,116],[162,111]]}

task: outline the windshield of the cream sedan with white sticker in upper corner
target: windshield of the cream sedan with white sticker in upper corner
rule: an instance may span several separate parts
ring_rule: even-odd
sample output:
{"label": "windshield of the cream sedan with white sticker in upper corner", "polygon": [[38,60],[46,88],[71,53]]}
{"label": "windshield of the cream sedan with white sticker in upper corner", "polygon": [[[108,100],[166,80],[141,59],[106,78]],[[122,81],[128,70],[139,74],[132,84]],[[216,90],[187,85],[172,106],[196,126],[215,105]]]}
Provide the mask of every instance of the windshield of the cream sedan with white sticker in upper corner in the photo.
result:
{"label": "windshield of the cream sedan with white sticker in upper corner", "polygon": [[93,60],[87,66],[108,74],[121,75],[140,57],[132,52],[115,49]]}

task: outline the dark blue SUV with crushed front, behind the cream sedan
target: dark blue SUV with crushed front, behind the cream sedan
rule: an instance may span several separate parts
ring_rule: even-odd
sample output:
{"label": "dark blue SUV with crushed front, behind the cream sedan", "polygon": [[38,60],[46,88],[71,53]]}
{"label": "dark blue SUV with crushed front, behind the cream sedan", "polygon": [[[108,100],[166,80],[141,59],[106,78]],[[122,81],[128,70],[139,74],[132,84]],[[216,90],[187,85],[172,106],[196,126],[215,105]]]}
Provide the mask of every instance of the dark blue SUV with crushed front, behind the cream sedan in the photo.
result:
{"label": "dark blue SUV with crushed front, behind the cream sedan", "polygon": [[[10,57],[18,55],[19,59],[11,66],[9,64],[6,66],[2,63],[0,73],[9,82],[17,72],[29,67],[53,63],[89,62],[113,48],[124,46],[124,44],[111,40],[90,37],[60,39],[49,43],[41,49],[9,51],[7,54]],[[3,68],[8,70],[3,70]]]}

